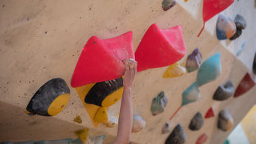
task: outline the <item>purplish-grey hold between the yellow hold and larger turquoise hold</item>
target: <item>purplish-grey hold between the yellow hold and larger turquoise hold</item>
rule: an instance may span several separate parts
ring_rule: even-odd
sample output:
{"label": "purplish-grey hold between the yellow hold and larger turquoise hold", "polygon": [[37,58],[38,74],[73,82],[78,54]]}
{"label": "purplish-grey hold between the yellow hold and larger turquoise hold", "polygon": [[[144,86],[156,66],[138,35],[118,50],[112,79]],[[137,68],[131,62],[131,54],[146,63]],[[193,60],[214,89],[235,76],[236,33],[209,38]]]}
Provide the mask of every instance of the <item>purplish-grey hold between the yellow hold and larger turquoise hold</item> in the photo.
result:
{"label": "purplish-grey hold between the yellow hold and larger turquoise hold", "polygon": [[188,55],[188,58],[186,59],[186,70],[188,72],[193,72],[197,70],[202,62],[202,55],[199,52],[199,48],[195,48],[195,50]]}

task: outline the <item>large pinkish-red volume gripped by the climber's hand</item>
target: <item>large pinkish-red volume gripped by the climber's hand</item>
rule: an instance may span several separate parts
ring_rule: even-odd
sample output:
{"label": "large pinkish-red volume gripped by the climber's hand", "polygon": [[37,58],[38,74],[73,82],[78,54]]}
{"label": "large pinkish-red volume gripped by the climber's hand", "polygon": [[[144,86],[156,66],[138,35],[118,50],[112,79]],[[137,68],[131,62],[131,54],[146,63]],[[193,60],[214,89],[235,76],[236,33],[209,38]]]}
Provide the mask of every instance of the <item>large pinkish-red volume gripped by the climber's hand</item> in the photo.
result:
{"label": "large pinkish-red volume gripped by the climber's hand", "polygon": [[71,86],[109,81],[124,74],[122,60],[134,59],[132,31],[101,40],[92,36],[85,44],[72,76]]}

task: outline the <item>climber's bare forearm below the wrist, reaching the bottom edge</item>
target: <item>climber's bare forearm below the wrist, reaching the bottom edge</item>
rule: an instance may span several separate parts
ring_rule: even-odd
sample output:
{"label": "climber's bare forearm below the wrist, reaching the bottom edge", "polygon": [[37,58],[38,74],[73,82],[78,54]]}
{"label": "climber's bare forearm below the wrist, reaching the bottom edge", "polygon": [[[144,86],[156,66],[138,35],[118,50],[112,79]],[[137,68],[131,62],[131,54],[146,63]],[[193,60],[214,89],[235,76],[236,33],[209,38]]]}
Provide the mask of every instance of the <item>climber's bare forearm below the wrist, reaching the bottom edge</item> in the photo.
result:
{"label": "climber's bare forearm below the wrist, reaching the bottom edge", "polygon": [[132,98],[131,87],[124,87],[115,143],[129,143],[132,130]]}

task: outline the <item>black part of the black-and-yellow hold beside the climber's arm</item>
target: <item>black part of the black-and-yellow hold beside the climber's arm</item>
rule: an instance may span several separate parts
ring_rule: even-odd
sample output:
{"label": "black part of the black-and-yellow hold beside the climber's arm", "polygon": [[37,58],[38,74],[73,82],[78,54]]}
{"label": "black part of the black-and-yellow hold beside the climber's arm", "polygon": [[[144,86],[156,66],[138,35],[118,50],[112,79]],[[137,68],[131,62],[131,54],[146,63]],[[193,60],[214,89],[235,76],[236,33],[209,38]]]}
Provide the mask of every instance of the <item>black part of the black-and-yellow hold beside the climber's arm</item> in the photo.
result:
{"label": "black part of the black-and-yellow hold beside the climber's arm", "polygon": [[87,104],[95,104],[102,106],[103,100],[111,93],[117,91],[123,87],[123,78],[117,78],[111,81],[104,81],[96,83],[94,87],[91,87],[87,95],[85,96],[85,102]]}

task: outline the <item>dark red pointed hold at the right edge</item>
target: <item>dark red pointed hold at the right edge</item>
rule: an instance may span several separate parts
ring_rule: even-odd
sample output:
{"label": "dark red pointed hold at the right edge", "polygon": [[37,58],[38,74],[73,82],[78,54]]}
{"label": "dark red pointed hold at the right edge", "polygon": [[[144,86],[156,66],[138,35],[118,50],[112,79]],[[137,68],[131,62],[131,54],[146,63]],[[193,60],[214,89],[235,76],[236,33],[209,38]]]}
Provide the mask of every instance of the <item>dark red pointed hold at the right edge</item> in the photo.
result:
{"label": "dark red pointed hold at the right edge", "polygon": [[242,81],[238,85],[238,88],[236,88],[236,92],[233,95],[234,98],[241,96],[242,94],[246,93],[249,91],[251,88],[255,86],[255,81],[251,77],[248,72],[245,74],[244,78],[242,78]]}

